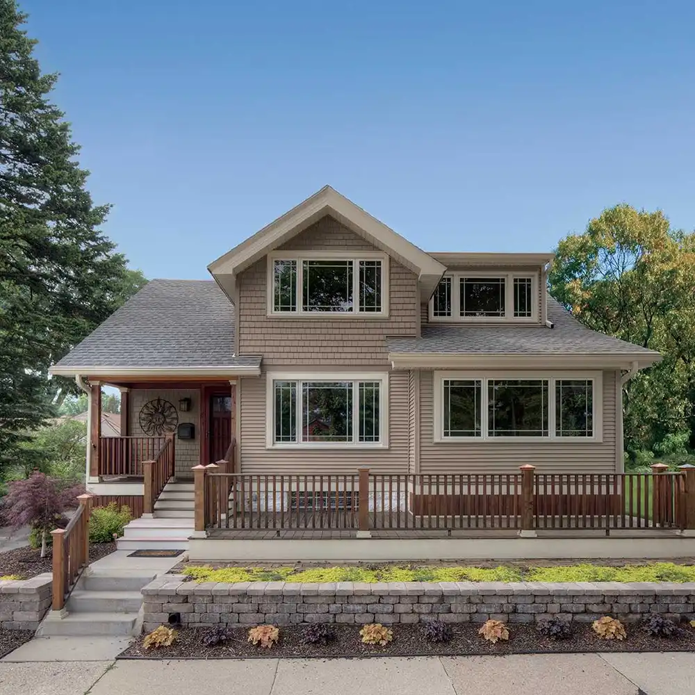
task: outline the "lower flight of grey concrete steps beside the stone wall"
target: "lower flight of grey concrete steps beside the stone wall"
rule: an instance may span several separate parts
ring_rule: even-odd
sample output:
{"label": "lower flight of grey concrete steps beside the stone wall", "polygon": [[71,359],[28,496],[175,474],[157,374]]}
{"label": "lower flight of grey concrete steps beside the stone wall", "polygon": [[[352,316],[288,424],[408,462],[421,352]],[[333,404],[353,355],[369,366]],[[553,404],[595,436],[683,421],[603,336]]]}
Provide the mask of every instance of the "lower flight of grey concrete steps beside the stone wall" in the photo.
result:
{"label": "lower flight of grey concrete steps beside the stone wall", "polygon": [[142,629],[140,589],[156,577],[145,570],[88,569],[63,612],[49,612],[36,634],[54,636],[138,635]]}

